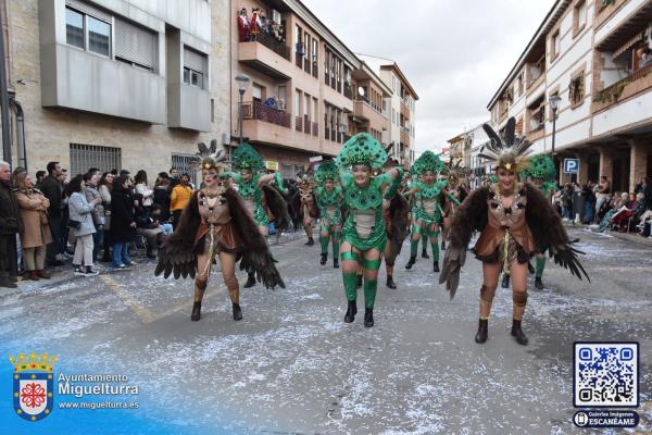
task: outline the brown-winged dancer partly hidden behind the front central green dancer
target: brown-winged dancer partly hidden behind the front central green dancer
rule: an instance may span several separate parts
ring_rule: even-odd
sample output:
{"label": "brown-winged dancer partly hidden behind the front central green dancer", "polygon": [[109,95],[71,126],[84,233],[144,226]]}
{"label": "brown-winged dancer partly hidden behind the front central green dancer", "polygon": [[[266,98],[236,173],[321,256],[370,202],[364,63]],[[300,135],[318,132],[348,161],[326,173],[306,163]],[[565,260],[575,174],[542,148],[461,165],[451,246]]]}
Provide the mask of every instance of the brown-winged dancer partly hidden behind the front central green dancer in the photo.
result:
{"label": "brown-winged dancer partly hidden behind the front central green dancer", "polygon": [[[399,166],[399,162],[388,159],[385,164],[385,172]],[[396,259],[401,253],[403,241],[408,237],[410,228],[410,203],[401,194],[402,183],[398,186],[398,191],[387,191],[383,197],[383,220],[385,221],[385,231],[387,232],[387,245],[385,245],[385,272],[387,281],[385,285],[388,288],[397,288],[393,281],[393,268]]]}

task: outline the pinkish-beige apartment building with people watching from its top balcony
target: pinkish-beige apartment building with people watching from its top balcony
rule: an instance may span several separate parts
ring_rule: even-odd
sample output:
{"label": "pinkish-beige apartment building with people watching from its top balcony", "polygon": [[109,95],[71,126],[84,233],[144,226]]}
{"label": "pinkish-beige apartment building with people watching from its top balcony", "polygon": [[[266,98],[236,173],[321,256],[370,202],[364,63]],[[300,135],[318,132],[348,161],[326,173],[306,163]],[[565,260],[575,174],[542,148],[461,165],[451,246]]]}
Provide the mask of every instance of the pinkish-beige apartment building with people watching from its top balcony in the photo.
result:
{"label": "pinkish-beige apartment building with people watching from its top balcony", "polygon": [[[275,34],[243,34],[241,14],[249,22],[262,14],[279,27]],[[298,0],[234,1],[230,16],[233,75],[251,78],[243,95],[244,139],[286,177],[312,157],[336,156],[351,130],[353,71],[360,60]],[[234,120],[239,98],[234,86]],[[239,136],[237,122],[230,133]]]}

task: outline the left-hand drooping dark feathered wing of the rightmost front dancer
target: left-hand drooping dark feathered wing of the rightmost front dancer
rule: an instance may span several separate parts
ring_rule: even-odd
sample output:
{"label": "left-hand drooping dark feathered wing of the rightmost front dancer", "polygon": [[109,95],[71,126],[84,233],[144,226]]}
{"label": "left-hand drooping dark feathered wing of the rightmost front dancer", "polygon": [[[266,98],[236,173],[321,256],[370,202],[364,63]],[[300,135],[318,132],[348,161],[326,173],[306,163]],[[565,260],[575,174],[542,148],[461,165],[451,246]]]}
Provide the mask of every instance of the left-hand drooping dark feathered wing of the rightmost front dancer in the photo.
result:
{"label": "left-hand drooping dark feathered wing of the rightmost front dancer", "polygon": [[466,261],[466,248],[474,231],[482,231],[487,225],[487,198],[489,189],[482,187],[471,194],[453,215],[449,233],[449,246],[443,257],[439,284],[446,283],[451,299],[455,297],[460,284],[460,270]]}

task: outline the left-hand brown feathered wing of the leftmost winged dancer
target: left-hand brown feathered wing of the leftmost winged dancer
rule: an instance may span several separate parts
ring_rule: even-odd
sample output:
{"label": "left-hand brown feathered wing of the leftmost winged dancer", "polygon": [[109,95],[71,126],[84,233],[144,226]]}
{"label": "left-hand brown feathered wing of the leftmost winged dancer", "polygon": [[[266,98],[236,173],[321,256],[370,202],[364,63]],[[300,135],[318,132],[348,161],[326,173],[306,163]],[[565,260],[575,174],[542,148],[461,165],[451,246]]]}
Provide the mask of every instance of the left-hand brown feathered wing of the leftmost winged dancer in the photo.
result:
{"label": "left-hand brown feathered wing of the leftmost winged dancer", "polygon": [[181,276],[184,278],[195,277],[197,273],[195,235],[200,223],[198,192],[195,192],[186,204],[176,229],[159,249],[159,263],[154,275],[159,276],[163,273],[163,277],[167,278],[174,274],[175,279]]}

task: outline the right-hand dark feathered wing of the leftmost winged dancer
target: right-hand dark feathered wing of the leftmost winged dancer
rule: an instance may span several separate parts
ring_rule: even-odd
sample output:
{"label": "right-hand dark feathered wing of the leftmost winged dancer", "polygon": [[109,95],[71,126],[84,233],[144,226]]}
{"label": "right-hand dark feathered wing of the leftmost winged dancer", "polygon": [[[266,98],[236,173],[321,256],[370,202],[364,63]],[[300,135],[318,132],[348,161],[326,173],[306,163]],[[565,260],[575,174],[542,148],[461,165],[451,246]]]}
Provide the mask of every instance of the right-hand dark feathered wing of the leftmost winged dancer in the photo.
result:
{"label": "right-hand dark feathered wing of the leftmost winged dancer", "polygon": [[253,269],[258,281],[262,282],[267,288],[276,286],[285,288],[285,283],[274,265],[274,259],[265,238],[261,235],[255,222],[244,208],[242,199],[234,189],[227,189],[224,198],[228,203],[236,232],[242,239],[240,270]]}

